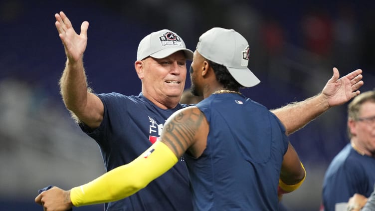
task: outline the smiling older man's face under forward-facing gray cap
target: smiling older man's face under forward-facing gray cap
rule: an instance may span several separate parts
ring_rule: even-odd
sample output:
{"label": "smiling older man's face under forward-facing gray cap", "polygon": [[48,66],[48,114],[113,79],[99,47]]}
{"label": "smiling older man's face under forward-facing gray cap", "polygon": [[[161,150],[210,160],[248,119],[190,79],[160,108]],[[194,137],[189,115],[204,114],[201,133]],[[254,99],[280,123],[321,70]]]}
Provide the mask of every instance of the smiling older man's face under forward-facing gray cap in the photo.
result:
{"label": "smiling older man's face under forward-facing gray cap", "polygon": [[166,58],[148,57],[143,60],[141,78],[143,88],[159,102],[165,98],[180,98],[185,88],[186,58],[183,51],[178,51]]}

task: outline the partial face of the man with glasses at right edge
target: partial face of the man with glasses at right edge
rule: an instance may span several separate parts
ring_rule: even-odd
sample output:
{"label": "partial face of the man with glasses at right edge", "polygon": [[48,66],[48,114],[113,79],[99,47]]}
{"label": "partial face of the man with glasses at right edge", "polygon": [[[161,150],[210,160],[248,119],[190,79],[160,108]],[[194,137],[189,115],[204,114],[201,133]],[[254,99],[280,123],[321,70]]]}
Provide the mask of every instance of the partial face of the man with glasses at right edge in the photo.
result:
{"label": "partial face of the man with glasses at right edge", "polygon": [[359,145],[373,154],[375,153],[375,102],[362,104],[359,120],[352,120],[350,130]]}

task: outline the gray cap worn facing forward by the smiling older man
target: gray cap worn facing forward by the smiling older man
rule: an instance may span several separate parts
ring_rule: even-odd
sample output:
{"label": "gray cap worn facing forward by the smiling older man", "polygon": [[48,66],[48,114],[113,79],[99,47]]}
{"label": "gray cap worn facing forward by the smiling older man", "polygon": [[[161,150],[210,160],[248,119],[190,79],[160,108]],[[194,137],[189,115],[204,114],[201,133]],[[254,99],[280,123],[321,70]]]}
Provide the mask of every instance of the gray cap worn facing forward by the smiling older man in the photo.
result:
{"label": "gray cap worn facing forward by the smiling older man", "polygon": [[175,32],[163,29],[145,36],[138,45],[137,60],[148,56],[165,58],[179,50],[184,51],[188,60],[192,60],[193,52],[186,48],[184,40]]}

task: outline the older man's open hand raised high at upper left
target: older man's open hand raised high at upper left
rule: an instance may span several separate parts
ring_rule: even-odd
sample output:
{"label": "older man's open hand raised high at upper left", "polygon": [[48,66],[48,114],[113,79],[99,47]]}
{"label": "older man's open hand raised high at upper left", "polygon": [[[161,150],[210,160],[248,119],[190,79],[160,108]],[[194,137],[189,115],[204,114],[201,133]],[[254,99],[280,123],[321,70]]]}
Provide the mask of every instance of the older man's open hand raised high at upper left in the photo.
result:
{"label": "older man's open hand raised high at upper left", "polygon": [[56,28],[59,32],[60,39],[65,47],[66,56],[69,62],[76,62],[83,57],[83,52],[87,45],[87,29],[89,22],[83,21],[81,24],[81,32],[77,34],[64,12],[55,14]]}

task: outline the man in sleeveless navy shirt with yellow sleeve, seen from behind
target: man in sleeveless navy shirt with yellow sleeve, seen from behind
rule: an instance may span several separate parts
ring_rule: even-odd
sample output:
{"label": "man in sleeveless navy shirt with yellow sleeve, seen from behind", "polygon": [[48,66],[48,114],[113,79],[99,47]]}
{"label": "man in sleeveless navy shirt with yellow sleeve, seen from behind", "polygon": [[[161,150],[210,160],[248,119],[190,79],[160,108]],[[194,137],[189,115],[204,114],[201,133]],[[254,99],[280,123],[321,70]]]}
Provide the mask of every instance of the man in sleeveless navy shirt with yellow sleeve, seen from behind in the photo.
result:
{"label": "man in sleeveless navy shirt with yellow sleeve, seen from behind", "polygon": [[[133,162],[70,191],[52,188],[35,202],[63,211],[131,197],[185,155],[194,210],[276,210],[278,188],[295,190],[305,171],[277,117],[239,92],[259,83],[247,68],[248,53],[247,41],[234,30],[202,34],[190,76],[193,93],[205,99],[168,118],[159,140]],[[358,74],[346,78],[351,90]]]}

